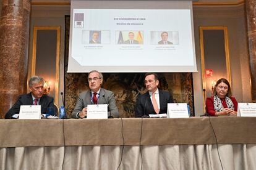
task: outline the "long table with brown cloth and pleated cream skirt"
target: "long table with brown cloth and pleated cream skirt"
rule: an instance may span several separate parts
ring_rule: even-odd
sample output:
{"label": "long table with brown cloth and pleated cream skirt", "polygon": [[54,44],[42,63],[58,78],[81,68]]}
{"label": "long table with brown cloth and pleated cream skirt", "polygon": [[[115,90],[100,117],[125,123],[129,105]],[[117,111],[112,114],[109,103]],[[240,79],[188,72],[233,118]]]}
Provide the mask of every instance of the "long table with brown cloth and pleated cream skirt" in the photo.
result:
{"label": "long table with brown cloth and pleated cream skirt", "polygon": [[0,119],[0,169],[256,169],[255,129],[245,117]]}

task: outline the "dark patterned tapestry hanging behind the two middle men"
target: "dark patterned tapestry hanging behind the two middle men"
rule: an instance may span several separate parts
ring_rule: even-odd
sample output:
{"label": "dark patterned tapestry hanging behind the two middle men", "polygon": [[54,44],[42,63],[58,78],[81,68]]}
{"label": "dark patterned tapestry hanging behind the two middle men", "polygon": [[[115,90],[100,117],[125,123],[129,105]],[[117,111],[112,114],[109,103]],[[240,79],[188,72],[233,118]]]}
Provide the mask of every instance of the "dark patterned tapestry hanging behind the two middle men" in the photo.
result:
{"label": "dark patterned tapestry hanging behind the two middle men", "polygon": [[[65,17],[65,59],[64,96],[66,113],[70,117],[80,92],[88,89],[87,73],[67,73],[69,60],[70,16]],[[190,115],[194,116],[192,73],[158,73],[159,88],[169,91],[174,102],[188,103]],[[116,105],[121,118],[134,117],[135,103],[140,94],[147,92],[144,86],[145,73],[103,73],[103,88],[114,92]]]}

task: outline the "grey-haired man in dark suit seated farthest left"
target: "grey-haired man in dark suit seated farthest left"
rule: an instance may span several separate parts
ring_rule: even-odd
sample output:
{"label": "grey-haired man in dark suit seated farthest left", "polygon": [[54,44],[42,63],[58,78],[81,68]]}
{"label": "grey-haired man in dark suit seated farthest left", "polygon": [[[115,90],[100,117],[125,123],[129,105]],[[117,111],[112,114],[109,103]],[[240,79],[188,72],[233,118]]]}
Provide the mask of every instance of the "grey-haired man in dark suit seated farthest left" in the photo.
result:
{"label": "grey-haired man in dark suit seated farthest left", "polygon": [[19,118],[21,105],[41,105],[41,114],[45,114],[48,107],[54,107],[53,97],[43,94],[44,79],[39,76],[33,76],[29,80],[30,93],[20,95],[19,99],[6,113],[4,118]]}

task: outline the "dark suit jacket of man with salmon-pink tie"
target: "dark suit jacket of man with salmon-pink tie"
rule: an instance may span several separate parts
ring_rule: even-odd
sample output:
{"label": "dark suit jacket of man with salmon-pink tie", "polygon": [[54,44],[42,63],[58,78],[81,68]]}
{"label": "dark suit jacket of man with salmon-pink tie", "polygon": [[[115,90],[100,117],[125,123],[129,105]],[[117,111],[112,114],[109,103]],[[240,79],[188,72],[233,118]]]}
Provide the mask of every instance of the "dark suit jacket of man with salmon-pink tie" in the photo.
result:
{"label": "dark suit jacket of man with salmon-pink tie", "polygon": [[[173,96],[169,92],[161,91],[160,89],[158,91],[160,102],[159,113],[167,113],[167,103],[173,103]],[[148,92],[139,95],[135,106],[135,118],[140,118],[144,113],[145,115],[156,114]]]}

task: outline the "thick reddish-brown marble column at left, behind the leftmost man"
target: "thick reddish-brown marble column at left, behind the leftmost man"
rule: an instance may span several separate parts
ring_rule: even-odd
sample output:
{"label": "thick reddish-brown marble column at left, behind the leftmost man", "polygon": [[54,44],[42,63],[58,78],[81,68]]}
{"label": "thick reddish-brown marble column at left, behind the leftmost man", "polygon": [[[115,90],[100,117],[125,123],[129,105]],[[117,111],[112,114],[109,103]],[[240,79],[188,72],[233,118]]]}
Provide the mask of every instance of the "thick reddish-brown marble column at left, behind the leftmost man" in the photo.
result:
{"label": "thick reddish-brown marble column at left, behind the leftmost man", "polygon": [[30,0],[2,0],[0,18],[0,117],[27,93]]}

